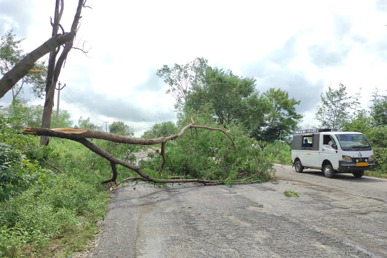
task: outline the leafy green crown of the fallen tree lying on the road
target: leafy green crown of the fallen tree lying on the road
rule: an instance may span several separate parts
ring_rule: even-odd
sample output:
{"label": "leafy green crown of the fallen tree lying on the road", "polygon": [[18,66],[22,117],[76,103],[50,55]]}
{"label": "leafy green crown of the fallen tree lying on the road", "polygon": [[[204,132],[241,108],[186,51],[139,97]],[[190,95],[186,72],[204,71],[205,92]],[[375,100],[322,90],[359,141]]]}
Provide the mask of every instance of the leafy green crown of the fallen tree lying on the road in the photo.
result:
{"label": "leafy green crown of the fallen tree lying on the road", "polygon": [[[190,115],[187,114],[184,120],[179,121],[179,127],[190,122]],[[197,124],[218,126],[210,114],[197,114],[193,119]],[[248,180],[268,180],[274,171],[270,157],[278,149],[273,146],[254,148],[252,144],[256,142],[243,136],[243,129],[234,123],[229,124],[229,130],[234,146],[222,132],[202,128],[192,129],[182,137],[168,142],[162,174],[220,180],[228,185],[247,177]],[[148,171],[158,171],[161,156],[150,153],[149,158],[141,161],[141,167]]]}

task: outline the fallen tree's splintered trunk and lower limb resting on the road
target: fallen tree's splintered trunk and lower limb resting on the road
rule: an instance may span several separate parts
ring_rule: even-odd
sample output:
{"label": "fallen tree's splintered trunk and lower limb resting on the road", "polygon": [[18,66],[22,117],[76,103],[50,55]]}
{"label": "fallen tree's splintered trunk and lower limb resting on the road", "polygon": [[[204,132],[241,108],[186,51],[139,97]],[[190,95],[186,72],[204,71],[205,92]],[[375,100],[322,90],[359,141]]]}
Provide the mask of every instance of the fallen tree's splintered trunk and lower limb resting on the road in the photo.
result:
{"label": "fallen tree's splintered trunk and lower limb resting on the road", "polygon": [[[86,148],[90,149],[91,151],[97,153],[101,157],[110,161],[110,164],[122,165],[128,169],[135,171],[137,174],[139,174],[140,176],[142,176],[143,178],[145,178],[146,180],[151,181],[151,182],[156,182],[156,183],[200,182],[200,183],[205,183],[205,184],[218,183],[218,181],[203,180],[203,179],[199,179],[199,178],[193,178],[193,179],[159,179],[159,178],[154,178],[154,177],[146,174],[139,167],[137,167],[133,164],[127,163],[123,160],[117,159],[116,157],[114,157],[113,155],[111,155],[107,151],[101,149],[100,147],[93,144],[92,142],[86,140],[83,137],[79,137],[79,134],[60,133],[60,132],[55,132],[54,130],[49,130],[49,129],[40,128],[40,127],[26,127],[24,130],[22,130],[22,133],[23,134],[32,134],[32,135],[37,135],[37,136],[58,137],[58,138],[69,139],[69,140],[79,142],[79,143],[83,144]],[[112,166],[112,168],[113,168],[113,166]],[[113,169],[113,172],[114,172],[114,169]],[[114,178],[114,175],[112,178]],[[105,181],[110,182],[110,179],[107,179]]]}

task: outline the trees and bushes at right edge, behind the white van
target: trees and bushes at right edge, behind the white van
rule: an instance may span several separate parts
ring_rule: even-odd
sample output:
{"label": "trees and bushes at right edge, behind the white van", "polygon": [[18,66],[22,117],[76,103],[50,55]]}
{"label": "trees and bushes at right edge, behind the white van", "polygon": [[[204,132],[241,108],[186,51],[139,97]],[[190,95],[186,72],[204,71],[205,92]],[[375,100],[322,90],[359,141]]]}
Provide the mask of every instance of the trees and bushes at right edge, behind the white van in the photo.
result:
{"label": "trees and bushes at right edge, behind the white van", "polygon": [[374,89],[368,110],[360,108],[361,92],[349,95],[346,86],[328,88],[321,94],[315,113],[319,127],[336,131],[360,132],[371,143],[376,169],[366,175],[387,177],[387,95]]}

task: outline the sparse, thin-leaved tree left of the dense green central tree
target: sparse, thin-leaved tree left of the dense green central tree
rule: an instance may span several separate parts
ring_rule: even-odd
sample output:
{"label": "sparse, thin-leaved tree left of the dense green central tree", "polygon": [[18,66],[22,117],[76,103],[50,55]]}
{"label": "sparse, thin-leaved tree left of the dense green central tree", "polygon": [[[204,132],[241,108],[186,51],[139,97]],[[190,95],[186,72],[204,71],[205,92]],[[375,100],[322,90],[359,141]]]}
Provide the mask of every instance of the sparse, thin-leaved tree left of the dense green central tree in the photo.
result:
{"label": "sparse, thin-leaved tree left of the dense green central tree", "polygon": [[183,65],[175,63],[172,68],[164,64],[157,70],[157,76],[164,79],[170,87],[166,93],[176,99],[176,110],[182,112],[188,93],[195,91],[195,88],[203,87],[207,67],[207,59],[198,57]]}

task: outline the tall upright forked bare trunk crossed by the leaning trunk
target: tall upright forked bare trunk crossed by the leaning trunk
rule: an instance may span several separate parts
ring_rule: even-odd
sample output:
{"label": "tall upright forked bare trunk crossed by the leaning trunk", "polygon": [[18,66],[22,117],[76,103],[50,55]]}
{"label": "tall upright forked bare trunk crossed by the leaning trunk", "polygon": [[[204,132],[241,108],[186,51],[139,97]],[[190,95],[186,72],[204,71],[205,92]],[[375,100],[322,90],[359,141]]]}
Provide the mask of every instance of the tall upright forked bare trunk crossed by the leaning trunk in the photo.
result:
{"label": "tall upright forked bare trunk crossed by the leaning trunk", "polygon": [[[60,12],[58,12],[59,8],[59,0],[56,0],[55,5],[55,17],[54,17],[54,24],[52,26],[52,34],[57,33],[58,26],[60,23],[60,18],[62,16],[63,12],[63,0],[61,2],[61,9]],[[72,31],[77,31],[79,20],[81,19],[81,11],[83,8],[84,0],[78,0],[78,7],[77,12],[74,16],[73,24],[71,26]],[[46,97],[43,107],[43,115],[42,115],[42,127],[49,128],[51,124],[51,115],[52,115],[52,108],[54,106],[54,97],[55,97],[55,85],[58,81],[61,68],[63,66],[64,61],[67,58],[68,53],[70,52],[71,48],[73,47],[74,43],[74,37],[69,40],[66,45],[64,45],[63,51],[60,53],[60,56],[58,57],[58,60],[56,61],[56,55],[58,51],[52,51],[50,54],[50,59],[48,63],[48,73],[47,73],[47,84],[46,84]],[[56,61],[56,64],[55,64]],[[48,138],[47,137],[41,137],[40,138],[40,145],[47,145],[48,144]]]}

